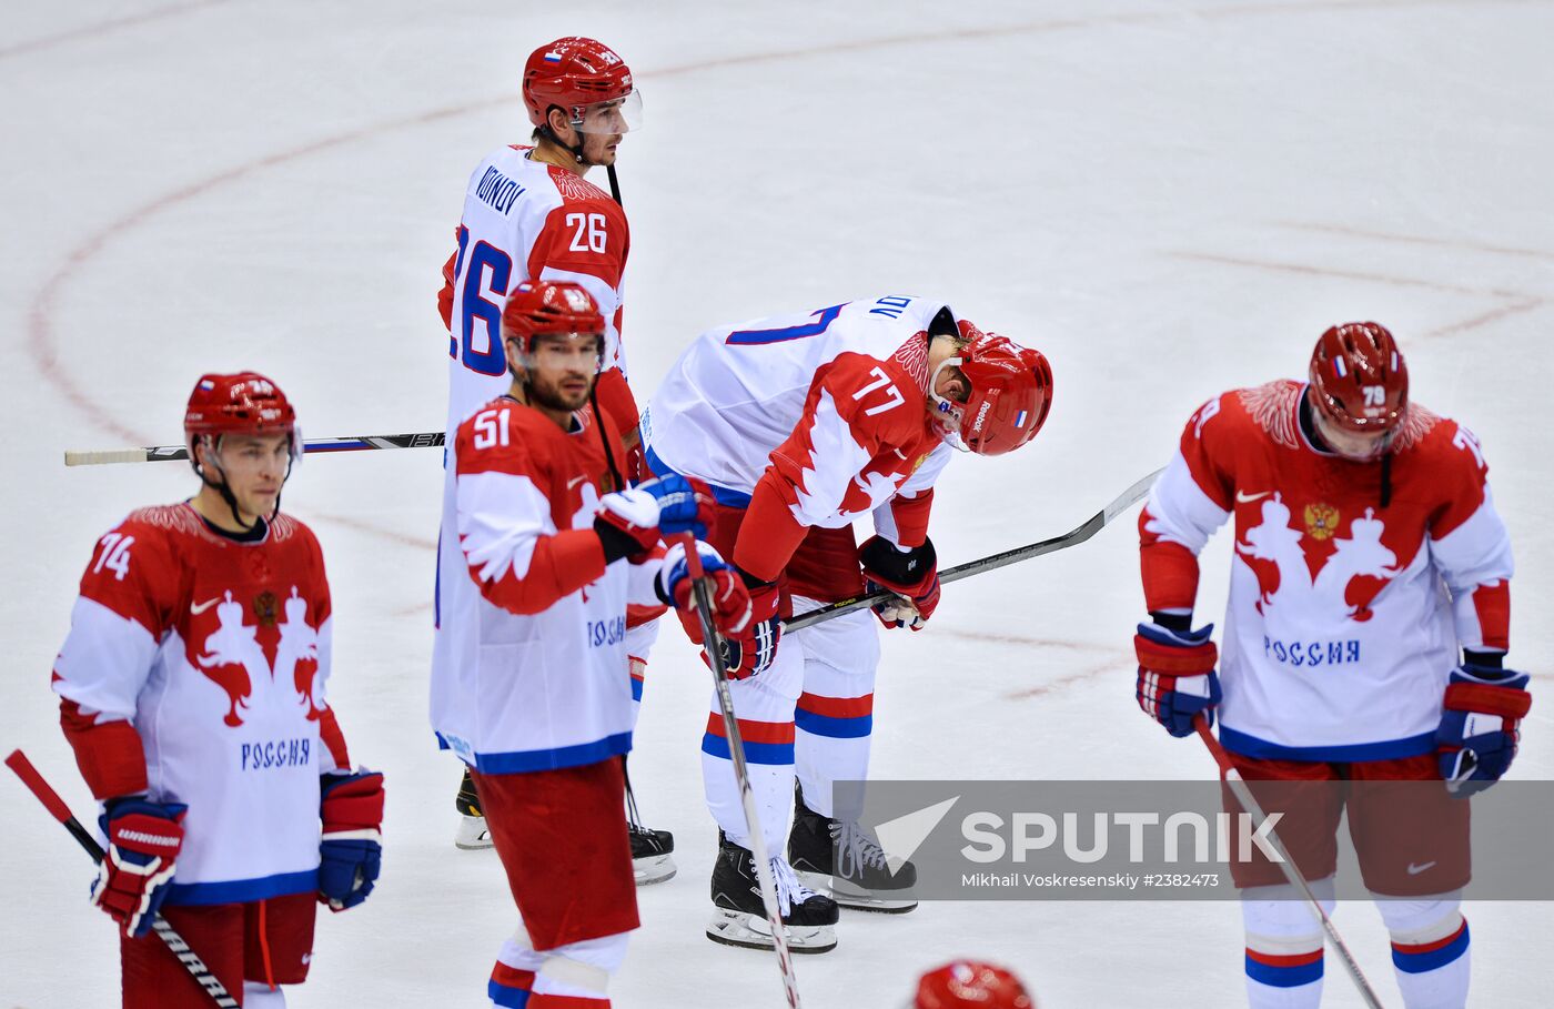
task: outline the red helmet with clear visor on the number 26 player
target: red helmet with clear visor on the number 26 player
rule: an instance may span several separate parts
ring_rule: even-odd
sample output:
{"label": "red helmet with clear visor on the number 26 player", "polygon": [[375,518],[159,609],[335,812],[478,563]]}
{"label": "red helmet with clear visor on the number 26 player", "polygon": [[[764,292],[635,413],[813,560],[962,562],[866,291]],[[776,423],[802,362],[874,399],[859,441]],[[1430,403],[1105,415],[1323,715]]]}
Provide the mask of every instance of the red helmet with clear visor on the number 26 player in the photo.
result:
{"label": "red helmet with clear visor on the number 26 player", "polygon": [[584,134],[625,134],[642,127],[642,95],[631,67],[603,42],[567,36],[530,53],[524,65],[528,121],[544,129],[559,106]]}

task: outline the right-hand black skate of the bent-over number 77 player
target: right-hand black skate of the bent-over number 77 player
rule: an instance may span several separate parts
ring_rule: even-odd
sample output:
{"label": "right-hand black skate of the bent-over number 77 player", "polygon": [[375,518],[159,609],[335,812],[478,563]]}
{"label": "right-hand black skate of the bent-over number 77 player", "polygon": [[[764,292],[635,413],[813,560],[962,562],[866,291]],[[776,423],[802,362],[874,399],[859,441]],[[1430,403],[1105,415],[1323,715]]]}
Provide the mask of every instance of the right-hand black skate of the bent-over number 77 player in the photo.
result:
{"label": "right-hand black skate of the bent-over number 77 player", "polygon": [[821,816],[794,799],[793,830],[788,832],[788,861],[799,878],[853,911],[906,914],[917,906],[912,886],[917,866],[901,861],[892,872],[884,849],[855,821]]}

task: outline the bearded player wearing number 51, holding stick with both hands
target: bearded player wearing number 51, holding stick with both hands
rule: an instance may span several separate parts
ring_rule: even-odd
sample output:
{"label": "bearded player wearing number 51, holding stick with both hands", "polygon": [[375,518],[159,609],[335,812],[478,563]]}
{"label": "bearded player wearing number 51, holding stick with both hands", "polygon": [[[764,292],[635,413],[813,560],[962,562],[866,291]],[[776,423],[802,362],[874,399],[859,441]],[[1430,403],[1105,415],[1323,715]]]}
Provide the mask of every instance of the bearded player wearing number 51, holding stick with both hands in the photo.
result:
{"label": "bearded player wearing number 51, holding stick with both hands", "polygon": [[[522,283],[502,312],[508,395],[454,442],[460,578],[444,609],[455,661],[432,675],[432,726],[472,770],[524,923],[491,973],[499,1006],[609,1006],[637,927],[622,757],[631,749],[626,603],[688,605],[684,546],[710,498],[682,477],[625,487],[620,434],[587,409],[605,319],[578,285]],[[715,620],[749,595],[715,550]],[[446,588],[446,585],[444,585]],[[449,595],[444,595],[449,599]]]}

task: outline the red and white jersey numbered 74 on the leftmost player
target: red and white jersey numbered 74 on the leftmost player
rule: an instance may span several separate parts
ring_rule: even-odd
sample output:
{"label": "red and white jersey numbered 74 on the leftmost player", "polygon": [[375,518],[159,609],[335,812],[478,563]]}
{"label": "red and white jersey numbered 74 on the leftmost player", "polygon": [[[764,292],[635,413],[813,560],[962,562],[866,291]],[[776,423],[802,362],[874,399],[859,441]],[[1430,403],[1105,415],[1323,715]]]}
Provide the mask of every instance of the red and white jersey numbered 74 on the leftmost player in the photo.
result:
{"label": "red and white jersey numbered 74 on the leftmost player", "polygon": [[317,889],[319,774],[350,770],[329,633],[323,553],[286,515],[244,543],[141,508],[98,541],[54,692],[93,794],[188,805],[171,903]]}

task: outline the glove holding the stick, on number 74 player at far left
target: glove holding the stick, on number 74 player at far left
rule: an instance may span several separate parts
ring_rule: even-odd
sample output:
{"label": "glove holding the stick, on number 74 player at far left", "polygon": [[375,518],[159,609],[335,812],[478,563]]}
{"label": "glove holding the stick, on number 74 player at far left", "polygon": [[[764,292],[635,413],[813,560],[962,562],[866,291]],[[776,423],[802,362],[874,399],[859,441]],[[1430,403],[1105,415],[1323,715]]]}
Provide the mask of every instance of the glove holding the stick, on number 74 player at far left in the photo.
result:
{"label": "glove holding the stick, on number 74 player at far left", "polygon": [[183,847],[182,802],[109,799],[98,818],[107,852],[92,885],[92,903],[107,911],[131,939],[151,931],[168,899],[174,863]]}

